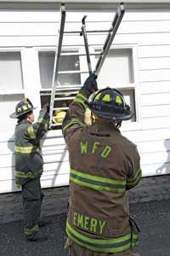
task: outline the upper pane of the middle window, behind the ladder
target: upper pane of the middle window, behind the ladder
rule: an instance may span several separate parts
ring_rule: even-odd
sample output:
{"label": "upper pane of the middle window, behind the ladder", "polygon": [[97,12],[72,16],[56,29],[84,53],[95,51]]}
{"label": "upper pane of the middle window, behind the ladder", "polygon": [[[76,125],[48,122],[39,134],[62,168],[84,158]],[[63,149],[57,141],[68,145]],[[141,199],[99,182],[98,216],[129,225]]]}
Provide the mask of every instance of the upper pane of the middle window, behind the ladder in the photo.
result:
{"label": "upper pane of the middle window, behind the ladder", "polygon": [[[39,52],[39,68],[42,89],[52,88],[54,73],[54,51]],[[59,71],[79,71],[79,57],[77,55],[63,55],[59,63]],[[58,75],[60,85],[81,84],[79,73],[64,73]]]}

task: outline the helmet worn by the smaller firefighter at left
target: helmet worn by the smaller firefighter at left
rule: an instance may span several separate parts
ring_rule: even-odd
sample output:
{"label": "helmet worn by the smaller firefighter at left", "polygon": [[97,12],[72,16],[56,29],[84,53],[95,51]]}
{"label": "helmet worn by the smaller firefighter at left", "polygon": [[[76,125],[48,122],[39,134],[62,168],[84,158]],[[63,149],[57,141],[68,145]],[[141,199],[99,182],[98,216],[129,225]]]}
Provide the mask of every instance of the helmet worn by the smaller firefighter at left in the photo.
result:
{"label": "helmet worn by the smaller firefighter at left", "polygon": [[19,102],[15,107],[15,112],[10,114],[10,118],[18,119],[26,113],[31,113],[34,107],[29,99],[24,99]]}

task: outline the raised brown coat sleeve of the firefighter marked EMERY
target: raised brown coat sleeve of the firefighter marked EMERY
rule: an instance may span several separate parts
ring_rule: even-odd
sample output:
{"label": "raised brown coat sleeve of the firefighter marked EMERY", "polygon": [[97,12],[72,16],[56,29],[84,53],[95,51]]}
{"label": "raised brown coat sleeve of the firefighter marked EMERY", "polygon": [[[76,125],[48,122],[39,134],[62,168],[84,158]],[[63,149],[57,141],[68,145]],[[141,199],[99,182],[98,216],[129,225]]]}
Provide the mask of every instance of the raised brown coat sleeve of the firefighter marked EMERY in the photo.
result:
{"label": "raised brown coat sleeve of the firefighter marked EMERY", "polygon": [[88,97],[85,92],[80,91],[67,110],[62,125],[63,136],[65,137],[66,143],[76,131],[86,126],[84,116],[87,109],[87,100]]}

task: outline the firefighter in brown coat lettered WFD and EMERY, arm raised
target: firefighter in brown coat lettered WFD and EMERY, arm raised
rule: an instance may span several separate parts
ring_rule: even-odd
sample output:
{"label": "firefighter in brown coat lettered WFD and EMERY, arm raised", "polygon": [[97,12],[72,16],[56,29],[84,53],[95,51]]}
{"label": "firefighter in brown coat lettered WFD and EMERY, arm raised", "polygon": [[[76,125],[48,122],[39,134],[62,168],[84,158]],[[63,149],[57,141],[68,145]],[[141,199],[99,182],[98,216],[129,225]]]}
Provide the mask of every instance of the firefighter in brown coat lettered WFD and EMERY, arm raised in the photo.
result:
{"label": "firefighter in brown coat lettered WFD and EMERY, arm raised", "polygon": [[[92,73],[63,121],[71,168],[65,247],[69,256],[139,255],[134,252],[139,228],[127,200],[127,190],[141,178],[139,153],[119,131],[122,120],[133,114],[118,90],[105,88],[90,96],[96,90]],[[87,107],[92,125],[84,123]]]}

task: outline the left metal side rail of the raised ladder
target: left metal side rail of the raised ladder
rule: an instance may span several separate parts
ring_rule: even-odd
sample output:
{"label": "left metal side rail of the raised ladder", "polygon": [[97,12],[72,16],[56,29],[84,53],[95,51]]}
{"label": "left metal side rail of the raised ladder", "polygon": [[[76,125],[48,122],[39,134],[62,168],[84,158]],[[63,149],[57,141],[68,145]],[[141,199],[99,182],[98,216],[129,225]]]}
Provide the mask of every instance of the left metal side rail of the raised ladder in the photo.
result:
{"label": "left metal side rail of the raised ladder", "polygon": [[65,4],[61,4],[59,30],[58,30],[59,34],[58,34],[58,42],[57,42],[55,58],[54,58],[52,94],[51,94],[51,101],[50,101],[50,108],[49,108],[49,126],[52,123],[53,108],[54,108],[54,96],[55,96],[55,82],[57,82],[57,77],[58,77],[58,73],[59,73],[59,61],[60,61],[60,56],[61,56],[61,47],[62,47],[64,29],[65,29]]}

